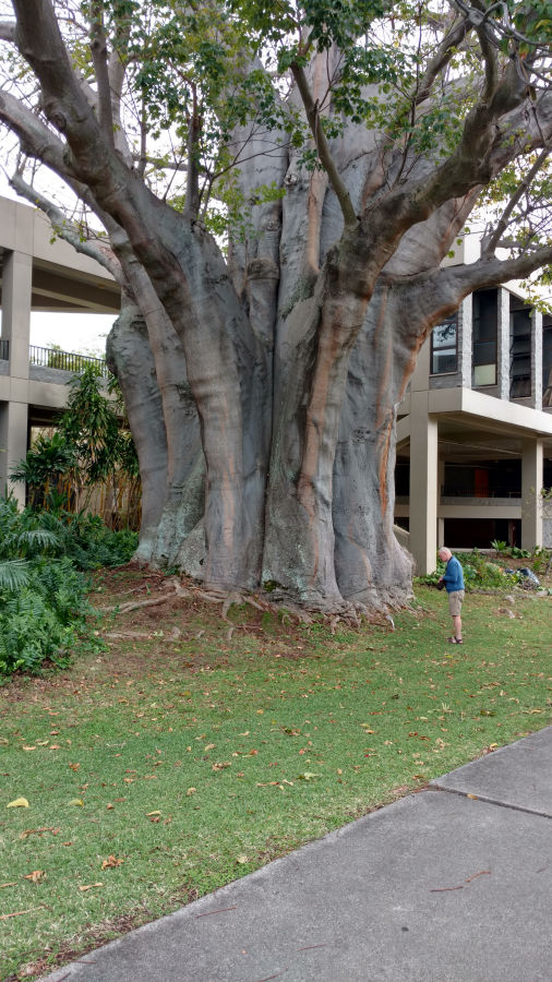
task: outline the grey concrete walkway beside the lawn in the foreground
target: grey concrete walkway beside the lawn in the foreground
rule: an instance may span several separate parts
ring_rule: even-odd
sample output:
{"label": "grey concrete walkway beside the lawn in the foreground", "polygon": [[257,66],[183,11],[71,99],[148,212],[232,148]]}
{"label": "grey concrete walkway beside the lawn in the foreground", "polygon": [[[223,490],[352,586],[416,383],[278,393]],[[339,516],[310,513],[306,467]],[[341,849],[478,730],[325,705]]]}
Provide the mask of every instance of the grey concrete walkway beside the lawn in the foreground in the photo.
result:
{"label": "grey concrete walkway beside the lawn in the foreground", "polygon": [[552,727],[43,982],[551,982]]}

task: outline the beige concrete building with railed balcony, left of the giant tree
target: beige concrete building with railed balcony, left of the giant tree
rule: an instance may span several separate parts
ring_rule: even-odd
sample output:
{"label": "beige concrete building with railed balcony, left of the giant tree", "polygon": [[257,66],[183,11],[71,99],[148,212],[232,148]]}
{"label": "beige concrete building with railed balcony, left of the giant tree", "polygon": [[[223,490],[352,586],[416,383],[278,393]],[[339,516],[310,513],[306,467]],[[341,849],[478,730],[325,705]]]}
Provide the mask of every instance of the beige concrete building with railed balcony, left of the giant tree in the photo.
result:
{"label": "beige concrete building with railed balcony, left of the giant tree", "polygon": [[10,482],[10,469],[26,454],[31,427],[50,422],[64,406],[72,374],[29,349],[31,312],[117,315],[120,306],[119,287],[103,266],[51,239],[39,212],[0,197],[0,493],[8,487],[21,503],[25,489]]}

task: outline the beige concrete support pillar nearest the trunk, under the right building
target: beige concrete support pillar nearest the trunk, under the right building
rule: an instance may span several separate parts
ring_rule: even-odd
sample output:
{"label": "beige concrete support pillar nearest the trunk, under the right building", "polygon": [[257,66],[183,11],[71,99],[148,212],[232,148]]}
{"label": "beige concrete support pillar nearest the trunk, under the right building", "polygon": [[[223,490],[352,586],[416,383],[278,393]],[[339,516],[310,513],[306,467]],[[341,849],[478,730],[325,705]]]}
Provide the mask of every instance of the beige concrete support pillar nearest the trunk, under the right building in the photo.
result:
{"label": "beige concrete support pillar nearest the trunk, under the right building", "polygon": [[410,396],[410,552],[420,576],[436,565],[437,421],[428,412],[428,393]]}

